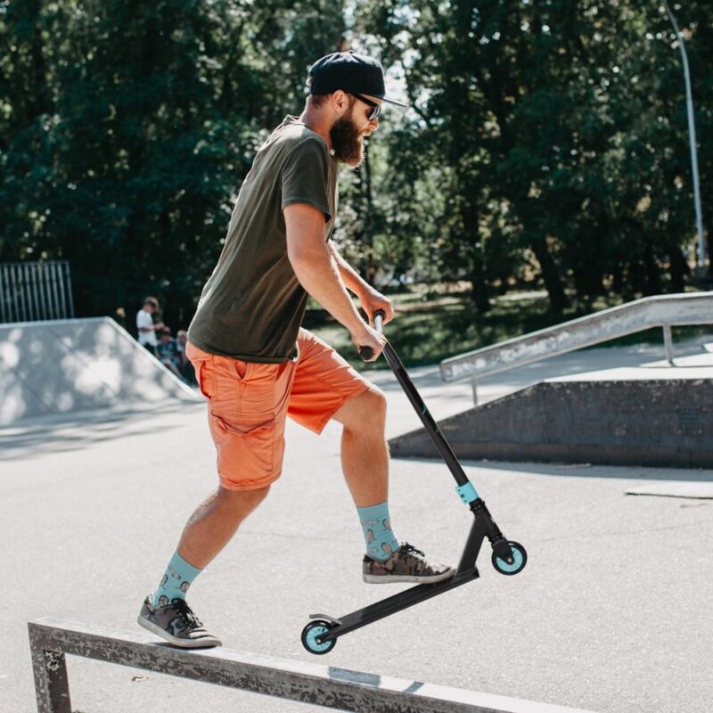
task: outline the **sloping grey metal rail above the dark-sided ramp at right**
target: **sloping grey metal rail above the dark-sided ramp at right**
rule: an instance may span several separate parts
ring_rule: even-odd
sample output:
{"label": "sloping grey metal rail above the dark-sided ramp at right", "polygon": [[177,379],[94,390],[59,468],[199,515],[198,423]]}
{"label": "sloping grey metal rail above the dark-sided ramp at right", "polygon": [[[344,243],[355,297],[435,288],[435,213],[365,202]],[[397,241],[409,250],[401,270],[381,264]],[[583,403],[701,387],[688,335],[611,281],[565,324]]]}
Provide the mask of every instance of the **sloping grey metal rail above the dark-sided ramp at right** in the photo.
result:
{"label": "sloping grey metal rail above the dark-sided ramp at right", "polygon": [[669,365],[675,366],[671,327],[689,324],[713,324],[713,291],[644,297],[490,347],[452,356],[440,363],[441,378],[443,381],[470,378],[473,400],[478,404],[477,380],[484,376],[652,327],[663,329],[666,358]]}

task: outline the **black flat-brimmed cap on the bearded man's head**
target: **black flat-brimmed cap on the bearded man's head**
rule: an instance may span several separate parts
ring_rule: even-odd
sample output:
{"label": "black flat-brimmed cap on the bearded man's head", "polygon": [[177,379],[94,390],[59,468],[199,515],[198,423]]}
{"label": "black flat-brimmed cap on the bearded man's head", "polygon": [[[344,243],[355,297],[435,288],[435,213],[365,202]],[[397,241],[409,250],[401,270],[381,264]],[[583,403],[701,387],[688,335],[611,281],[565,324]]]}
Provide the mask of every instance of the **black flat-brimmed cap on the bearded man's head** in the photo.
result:
{"label": "black flat-brimmed cap on the bearded man's head", "polygon": [[389,99],[384,86],[384,70],[372,57],[356,52],[335,52],[317,60],[309,68],[309,94],[332,94],[338,89],[347,94],[368,94],[389,104],[408,106]]}

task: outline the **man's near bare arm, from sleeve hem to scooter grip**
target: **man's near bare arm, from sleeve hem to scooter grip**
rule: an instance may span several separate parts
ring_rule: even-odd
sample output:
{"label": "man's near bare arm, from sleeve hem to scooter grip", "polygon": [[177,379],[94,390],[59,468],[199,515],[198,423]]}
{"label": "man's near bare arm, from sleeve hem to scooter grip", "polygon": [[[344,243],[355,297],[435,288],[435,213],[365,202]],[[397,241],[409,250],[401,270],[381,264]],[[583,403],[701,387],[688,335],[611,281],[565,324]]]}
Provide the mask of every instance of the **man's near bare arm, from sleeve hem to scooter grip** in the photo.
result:
{"label": "man's near bare arm, from sleeve hem to scooter grip", "polygon": [[287,257],[302,287],[340,324],[357,347],[371,347],[373,358],[381,354],[384,338],[359,316],[342,282],[340,268],[324,236],[324,213],[307,203],[284,209]]}

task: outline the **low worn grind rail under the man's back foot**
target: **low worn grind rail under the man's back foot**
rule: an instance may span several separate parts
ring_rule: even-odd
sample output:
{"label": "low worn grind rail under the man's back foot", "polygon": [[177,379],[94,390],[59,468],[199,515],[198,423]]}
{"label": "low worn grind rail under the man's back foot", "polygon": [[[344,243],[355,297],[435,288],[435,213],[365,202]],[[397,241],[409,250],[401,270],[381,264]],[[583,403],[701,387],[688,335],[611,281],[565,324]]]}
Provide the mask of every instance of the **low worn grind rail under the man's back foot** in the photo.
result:
{"label": "low worn grind rail under the man's back foot", "polygon": [[38,713],[71,713],[67,654],[360,713],[586,713],[252,653],[176,649],[151,635],[59,619],[28,627]]}

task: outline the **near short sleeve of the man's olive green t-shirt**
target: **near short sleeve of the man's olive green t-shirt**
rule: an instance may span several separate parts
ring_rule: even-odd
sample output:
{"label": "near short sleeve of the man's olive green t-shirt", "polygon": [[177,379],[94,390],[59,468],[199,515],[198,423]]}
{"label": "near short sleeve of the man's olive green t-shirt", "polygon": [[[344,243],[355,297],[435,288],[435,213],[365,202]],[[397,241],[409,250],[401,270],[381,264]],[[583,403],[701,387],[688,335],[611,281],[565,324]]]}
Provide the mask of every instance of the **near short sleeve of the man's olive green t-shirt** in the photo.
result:
{"label": "near short sleeve of the man's olive green t-shirt", "polygon": [[327,193],[328,160],[324,144],[316,139],[292,149],[283,168],[283,210],[292,203],[307,203],[324,213],[324,222],[332,217]]}

